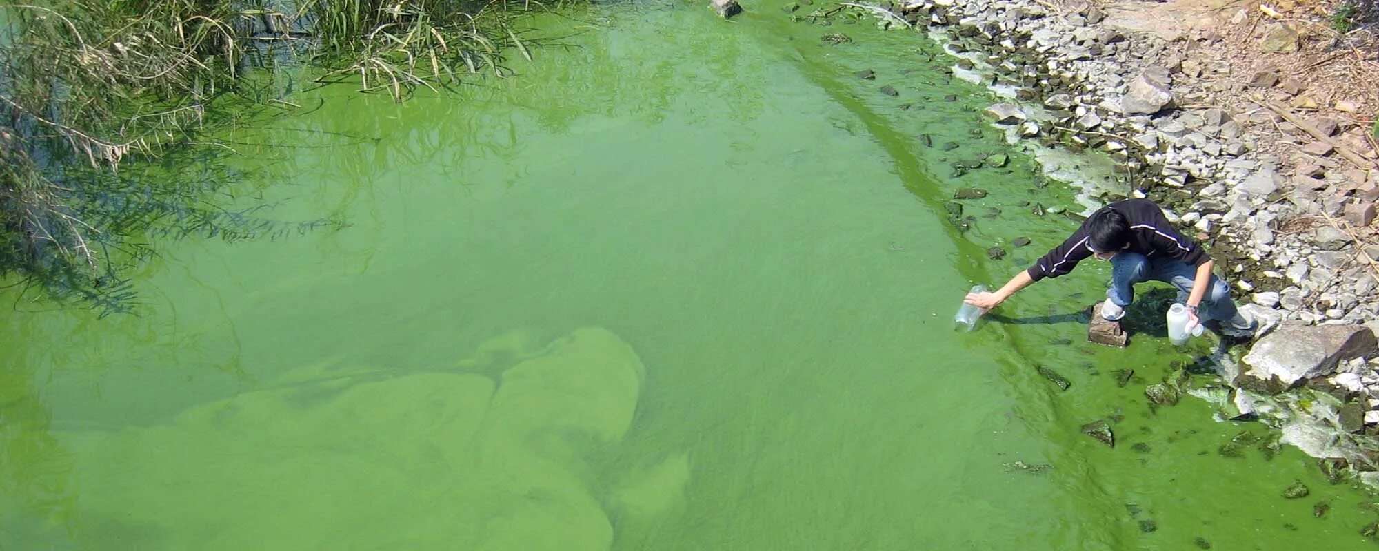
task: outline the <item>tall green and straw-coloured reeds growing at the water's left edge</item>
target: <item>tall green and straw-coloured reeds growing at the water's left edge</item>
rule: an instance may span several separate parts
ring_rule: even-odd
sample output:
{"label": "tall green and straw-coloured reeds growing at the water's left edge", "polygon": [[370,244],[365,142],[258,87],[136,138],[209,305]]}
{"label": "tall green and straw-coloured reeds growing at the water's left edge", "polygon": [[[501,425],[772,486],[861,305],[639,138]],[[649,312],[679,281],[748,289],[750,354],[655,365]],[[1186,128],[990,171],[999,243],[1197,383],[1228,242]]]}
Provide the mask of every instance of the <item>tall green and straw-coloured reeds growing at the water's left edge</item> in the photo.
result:
{"label": "tall green and straw-coloured reeds growing at the water's left edge", "polygon": [[[403,101],[530,58],[512,22],[543,8],[473,0],[0,1],[0,276],[59,300],[127,309],[152,233],[252,238],[277,225],[211,197],[233,175],[205,135],[258,94],[254,58],[285,44],[323,81]],[[276,59],[276,58],[273,58]],[[277,102],[276,105],[273,102]],[[208,145],[210,143],[210,145]],[[196,171],[161,169],[170,163]],[[142,167],[142,168],[141,168]],[[156,175],[154,175],[156,174]],[[205,175],[215,178],[205,178]]]}

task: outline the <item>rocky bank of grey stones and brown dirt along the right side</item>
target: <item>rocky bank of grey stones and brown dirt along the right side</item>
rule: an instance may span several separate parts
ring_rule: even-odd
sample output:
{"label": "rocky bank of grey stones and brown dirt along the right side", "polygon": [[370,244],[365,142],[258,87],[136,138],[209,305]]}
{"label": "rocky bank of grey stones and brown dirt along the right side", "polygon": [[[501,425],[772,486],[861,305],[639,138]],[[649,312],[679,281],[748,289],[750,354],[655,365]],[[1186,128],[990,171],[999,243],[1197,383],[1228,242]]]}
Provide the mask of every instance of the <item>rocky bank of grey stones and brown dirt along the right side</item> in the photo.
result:
{"label": "rocky bank of grey stones and brown dirt along the right side", "polygon": [[[1219,380],[1189,393],[1216,404],[1219,419],[1280,428],[1328,477],[1379,486],[1379,169],[1369,129],[1295,113],[1285,105],[1314,101],[1276,70],[1233,74],[1209,55],[1223,48],[1215,30],[1174,40],[1128,32],[1085,1],[903,1],[883,25],[928,28],[954,55],[956,74],[1008,95],[986,112],[1012,141],[1105,152],[1124,169],[1125,196],[1164,205],[1211,251],[1259,332],[1242,358],[1218,354]],[[1287,23],[1258,34],[1263,48],[1300,40]],[[1254,107],[1227,107],[1241,99]]]}

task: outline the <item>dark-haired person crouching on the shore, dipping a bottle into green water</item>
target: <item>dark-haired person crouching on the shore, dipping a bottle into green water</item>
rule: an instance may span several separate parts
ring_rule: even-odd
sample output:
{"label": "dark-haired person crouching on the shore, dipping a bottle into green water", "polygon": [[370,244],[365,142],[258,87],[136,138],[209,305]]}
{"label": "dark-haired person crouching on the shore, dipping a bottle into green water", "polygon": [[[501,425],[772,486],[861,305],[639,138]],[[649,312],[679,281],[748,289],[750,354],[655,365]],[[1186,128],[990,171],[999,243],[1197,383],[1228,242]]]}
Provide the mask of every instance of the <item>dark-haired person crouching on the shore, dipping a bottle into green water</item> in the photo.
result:
{"label": "dark-haired person crouching on the shore, dipping a bottle into green water", "polygon": [[1005,287],[967,295],[965,302],[994,309],[1029,284],[1073,271],[1088,256],[1111,263],[1111,287],[1099,309],[1106,320],[1125,315],[1125,307],[1135,300],[1135,284],[1162,281],[1178,288],[1178,302],[1187,306],[1189,328],[1215,321],[1220,333],[1230,337],[1255,333],[1255,322],[1236,310],[1230,287],[1212,274],[1211,258],[1179,234],[1158,205],[1143,198],[1102,207],[1062,245],[1015,274]]}

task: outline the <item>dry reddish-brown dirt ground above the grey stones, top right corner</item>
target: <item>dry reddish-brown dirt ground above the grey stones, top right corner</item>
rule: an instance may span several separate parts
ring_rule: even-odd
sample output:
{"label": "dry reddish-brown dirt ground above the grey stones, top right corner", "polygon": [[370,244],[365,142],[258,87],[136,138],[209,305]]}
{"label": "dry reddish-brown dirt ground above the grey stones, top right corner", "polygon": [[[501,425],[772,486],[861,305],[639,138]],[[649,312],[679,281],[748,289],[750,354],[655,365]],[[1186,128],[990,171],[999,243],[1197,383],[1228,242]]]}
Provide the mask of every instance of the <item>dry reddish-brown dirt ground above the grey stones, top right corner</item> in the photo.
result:
{"label": "dry reddish-brown dirt ground above the grey stones, top right corner", "polygon": [[[1276,156],[1281,174],[1331,163],[1347,183],[1322,193],[1358,196],[1365,182],[1371,189],[1379,182],[1379,14],[1368,25],[1338,25],[1333,14],[1354,0],[1094,1],[1106,14],[1102,25],[1185,44],[1186,90],[1179,102],[1225,107],[1248,120],[1256,149]],[[1265,34],[1278,26],[1296,32],[1296,51],[1266,51]],[[1278,83],[1258,85],[1262,73],[1276,73]],[[1322,160],[1299,153],[1318,141],[1309,127],[1324,120],[1338,123],[1331,139],[1336,150]],[[1379,244],[1379,220],[1368,227],[1339,218],[1310,223],[1336,225],[1371,245],[1357,249],[1379,274],[1379,256],[1365,253]]]}

